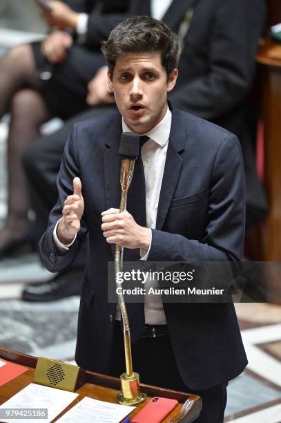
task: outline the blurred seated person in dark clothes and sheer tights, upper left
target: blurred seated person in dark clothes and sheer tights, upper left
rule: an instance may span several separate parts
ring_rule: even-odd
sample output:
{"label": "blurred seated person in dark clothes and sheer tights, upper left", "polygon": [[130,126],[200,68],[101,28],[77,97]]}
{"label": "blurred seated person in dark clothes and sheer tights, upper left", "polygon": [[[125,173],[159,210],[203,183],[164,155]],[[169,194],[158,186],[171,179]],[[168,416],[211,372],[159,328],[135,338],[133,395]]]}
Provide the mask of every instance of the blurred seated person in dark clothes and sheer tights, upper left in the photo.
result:
{"label": "blurred seated person in dark clothes and sheer tights, upper left", "polygon": [[[10,48],[0,59],[0,118],[10,111],[8,134],[8,218],[0,232],[0,258],[28,238],[28,194],[23,151],[55,116],[66,120],[87,109],[87,84],[104,65],[99,52],[127,0],[66,0],[41,7],[51,27],[42,42]],[[113,102],[110,96],[107,102]],[[24,245],[26,247],[26,244]]]}

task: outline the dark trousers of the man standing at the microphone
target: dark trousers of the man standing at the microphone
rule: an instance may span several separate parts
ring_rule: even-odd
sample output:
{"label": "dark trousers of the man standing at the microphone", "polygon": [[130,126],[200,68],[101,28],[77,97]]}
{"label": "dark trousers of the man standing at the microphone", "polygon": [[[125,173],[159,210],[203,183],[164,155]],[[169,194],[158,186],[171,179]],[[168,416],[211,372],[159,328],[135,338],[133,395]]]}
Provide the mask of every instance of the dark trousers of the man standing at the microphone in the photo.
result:
{"label": "dark trousers of the man standing at the microphone", "polygon": [[[119,377],[126,370],[124,360],[124,340],[120,323],[115,323],[114,351],[110,375]],[[225,384],[204,391],[194,391],[182,381],[177,370],[175,357],[168,335],[155,338],[141,338],[132,344],[133,370],[139,373],[140,382],[195,393],[202,397],[202,411],[196,423],[222,423],[226,407]]]}

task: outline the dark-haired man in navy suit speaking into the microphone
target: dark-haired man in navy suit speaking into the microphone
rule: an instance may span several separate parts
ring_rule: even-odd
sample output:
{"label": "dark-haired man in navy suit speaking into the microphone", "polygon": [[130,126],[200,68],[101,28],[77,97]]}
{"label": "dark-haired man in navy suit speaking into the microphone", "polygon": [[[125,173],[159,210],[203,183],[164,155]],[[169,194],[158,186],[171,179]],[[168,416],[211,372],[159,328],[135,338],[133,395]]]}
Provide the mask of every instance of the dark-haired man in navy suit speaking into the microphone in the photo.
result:
{"label": "dark-haired man in navy suit speaking into the microphone", "polygon": [[[71,265],[89,234],[76,360],[100,373],[124,370],[119,314],[106,285],[116,243],[125,256],[149,261],[242,259],[240,144],[219,126],[169,109],[177,47],[173,32],[148,17],[126,19],[111,32],[103,53],[121,115],[75,125],[57,180],[59,200],[39,243],[44,265],[58,272]],[[119,213],[122,131],[147,136],[141,150],[146,196],[145,204],[128,196],[128,211]],[[141,186],[130,192],[138,194]],[[136,205],[145,206],[146,224],[135,220]],[[142,310],[131,308],[130,323],[142,382],[195,391],[203,400],[198,422],[223,422],[226,385],[246,366],[233,303],[163,304],[158,298],[151,304],[146,298]]]}

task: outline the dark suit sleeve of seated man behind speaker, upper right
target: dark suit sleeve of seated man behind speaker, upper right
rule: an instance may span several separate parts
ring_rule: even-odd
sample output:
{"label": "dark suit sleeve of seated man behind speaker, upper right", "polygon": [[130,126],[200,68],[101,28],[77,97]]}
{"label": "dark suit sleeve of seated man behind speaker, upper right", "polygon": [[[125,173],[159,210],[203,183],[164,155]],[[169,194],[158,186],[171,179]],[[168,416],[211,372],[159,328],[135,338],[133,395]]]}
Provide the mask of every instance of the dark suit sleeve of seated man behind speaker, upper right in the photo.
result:
{"label": "dark suit sleeve of seated man behind speaker, upper right", "polygon": [[[253,82],[255,53],[264,17],[264,0],[216,2],[209,39],[204,41],[209,43],[209,71],[186,84],[183,80],[180,90],[171,93],[170,99],[177,109],[214,121],[243,100]],[[188,42],[185,48],[191,48]],[[191,59],[187,50],[186,54]],[[182,62],[184,55],[185,52]]]}

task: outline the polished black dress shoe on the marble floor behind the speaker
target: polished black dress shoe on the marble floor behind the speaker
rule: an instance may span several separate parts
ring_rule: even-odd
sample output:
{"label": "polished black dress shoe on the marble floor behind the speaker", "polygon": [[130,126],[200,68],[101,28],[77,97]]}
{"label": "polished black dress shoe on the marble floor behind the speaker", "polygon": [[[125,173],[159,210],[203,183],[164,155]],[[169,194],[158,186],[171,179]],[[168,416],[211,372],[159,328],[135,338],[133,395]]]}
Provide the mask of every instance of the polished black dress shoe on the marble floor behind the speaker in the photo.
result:
{"label": "polished black dress shoe on the marble floor behind the speaker", "polygon": [[21,294],[21,299],[24,301],[55,301],[79,295],[82,279],[82,270],[59,273],[51,281],[27,285]]}

